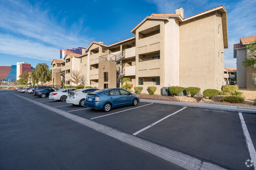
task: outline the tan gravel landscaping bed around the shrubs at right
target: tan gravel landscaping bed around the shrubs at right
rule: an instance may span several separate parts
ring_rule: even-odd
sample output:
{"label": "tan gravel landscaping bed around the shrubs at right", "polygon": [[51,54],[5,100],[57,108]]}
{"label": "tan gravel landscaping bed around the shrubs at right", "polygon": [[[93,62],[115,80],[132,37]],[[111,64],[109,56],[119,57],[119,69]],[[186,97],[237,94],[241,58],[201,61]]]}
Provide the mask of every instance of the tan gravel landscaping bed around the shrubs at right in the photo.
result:
{"label": "tan gravel landscaping bed around the shrubs at right", "polygon": [[180,102],[193,102],[193,103],[209,103],[209,104],[221,104],[228,106],[241,106],[241,107],[251,107],[256,108],[254,101],[256,99],[256,90],[255,89],[239,89],[245,97],[243,103],[229,103],[221,102],[220,100],[225,97],[225,95],[218,95],[209,99],[208,97],[203,96],[162,96],[162,95],[149,95],[149,94],[137,94],[140,99],[152,99],[152,100],[164,100],[164,101],[180,101]]}

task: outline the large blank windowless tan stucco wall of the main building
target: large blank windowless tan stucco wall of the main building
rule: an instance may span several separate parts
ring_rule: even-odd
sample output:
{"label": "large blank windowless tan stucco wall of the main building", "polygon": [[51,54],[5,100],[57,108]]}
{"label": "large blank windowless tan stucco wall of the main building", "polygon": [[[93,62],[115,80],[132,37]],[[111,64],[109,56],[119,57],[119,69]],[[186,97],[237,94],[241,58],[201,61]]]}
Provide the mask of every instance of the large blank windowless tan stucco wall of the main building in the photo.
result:
{"label": "large blank windowless tan stucco wall of the main building", "polygon": [[220,90],[216,49],[221,40],[216,42],[216,20],[212,12],[180,23],[180,86]]}

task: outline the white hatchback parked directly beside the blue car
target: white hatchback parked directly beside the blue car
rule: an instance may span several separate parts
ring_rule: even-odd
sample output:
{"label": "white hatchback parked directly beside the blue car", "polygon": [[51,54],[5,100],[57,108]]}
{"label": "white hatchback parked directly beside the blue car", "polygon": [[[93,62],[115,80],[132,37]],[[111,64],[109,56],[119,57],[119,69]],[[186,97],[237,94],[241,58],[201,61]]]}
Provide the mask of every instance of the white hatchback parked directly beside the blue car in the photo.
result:
{"label": "white hatchback parked directly beside the blue car", "polygon": [[85,88],[85,89],[78,89],[72,92],[69,92],[68,98],[66,99],[67,103],[73,105],[79,105],[80,107],[84,107],[84,100],[88,93],[96,91],[99,89],[96,88]]}

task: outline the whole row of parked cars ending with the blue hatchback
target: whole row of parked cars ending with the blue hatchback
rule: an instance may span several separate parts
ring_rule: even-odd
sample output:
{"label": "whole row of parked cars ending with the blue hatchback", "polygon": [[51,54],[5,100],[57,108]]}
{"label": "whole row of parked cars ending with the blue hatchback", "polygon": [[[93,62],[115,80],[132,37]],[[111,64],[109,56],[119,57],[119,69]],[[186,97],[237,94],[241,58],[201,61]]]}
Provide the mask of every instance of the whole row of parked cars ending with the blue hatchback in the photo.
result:
{"label": "whole row of parked cars ending with the blue hatchback", "polygon": [[49,97],[52,100],[63,101],[80,107],[102,109],[104,112],[109,112],[112,108],[119,106],[136,106],[139,103],[137,95],[121,88],[55,90],[52,87],[41,86],[32,89],[23,88],[19,92],[32,93],[37,97]]}

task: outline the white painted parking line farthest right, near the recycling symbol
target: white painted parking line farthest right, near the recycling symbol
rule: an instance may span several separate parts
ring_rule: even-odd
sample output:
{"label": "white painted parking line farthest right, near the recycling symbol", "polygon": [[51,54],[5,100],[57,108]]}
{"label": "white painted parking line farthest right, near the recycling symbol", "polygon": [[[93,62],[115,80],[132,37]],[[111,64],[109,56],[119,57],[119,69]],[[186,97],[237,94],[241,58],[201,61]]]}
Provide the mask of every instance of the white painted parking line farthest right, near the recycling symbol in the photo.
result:
{"label": "white painted parking line farthest right, near the recycling symbol", "polygon": [[247,126],[245,124],[245,120],[243,119],[242,113],[239,113],[239,117],[240,117],[242,128],[243,128],[243,134],[245,135],[245,141],[246,141],[249,153],[250,153],[250,159],[254,163],[254,170],[256,170],[256,152],[255,152],[255,148],[253,146],[252,139],[250,139],[250,134],[249,134]]}

